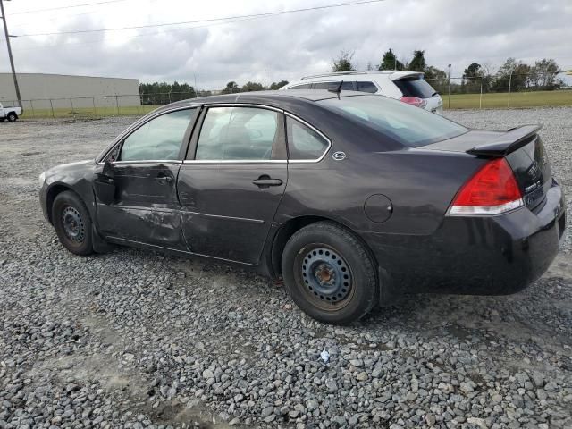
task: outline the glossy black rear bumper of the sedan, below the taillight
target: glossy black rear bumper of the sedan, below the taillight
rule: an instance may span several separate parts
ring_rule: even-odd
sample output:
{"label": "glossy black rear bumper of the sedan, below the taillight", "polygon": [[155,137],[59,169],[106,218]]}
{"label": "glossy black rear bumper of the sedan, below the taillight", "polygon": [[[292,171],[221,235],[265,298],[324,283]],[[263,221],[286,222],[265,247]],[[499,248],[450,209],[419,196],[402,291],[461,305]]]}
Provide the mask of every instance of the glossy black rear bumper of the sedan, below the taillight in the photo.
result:
{"label": "glossy black rear bumper of the sedan, below the taillight", "polygon": [[446,217],[431,236],[364,233],[393,292],[506,295],[543,275],[559,251],[566,205],[554,182],[537,213]]}

